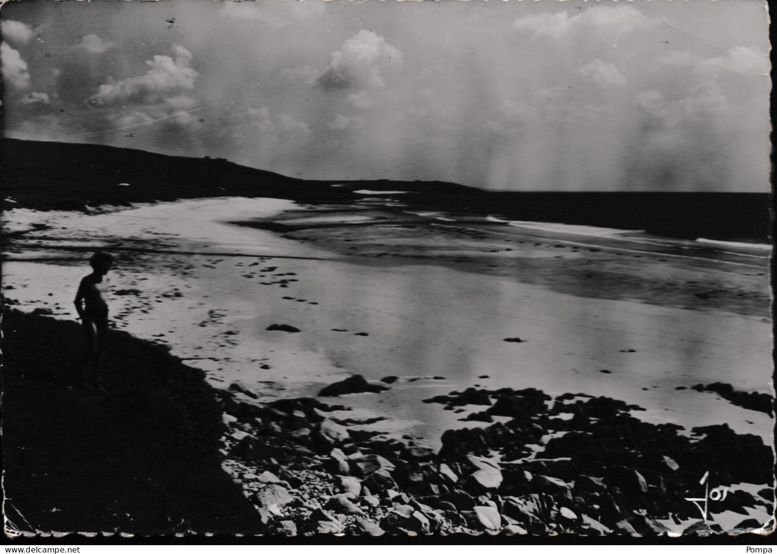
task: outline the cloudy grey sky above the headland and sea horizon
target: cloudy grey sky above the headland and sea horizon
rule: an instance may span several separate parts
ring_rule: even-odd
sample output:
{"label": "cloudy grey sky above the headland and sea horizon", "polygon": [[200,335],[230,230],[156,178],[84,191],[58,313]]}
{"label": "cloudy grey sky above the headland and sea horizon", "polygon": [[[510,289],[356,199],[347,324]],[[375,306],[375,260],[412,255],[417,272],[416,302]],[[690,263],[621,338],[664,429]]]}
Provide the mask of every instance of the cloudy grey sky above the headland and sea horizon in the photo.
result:
{"label": "cloudy grey sky above the headland and sea horizon", "polygon": [[4,132],[320,179],[768,192],[758,0],[12,0]]}

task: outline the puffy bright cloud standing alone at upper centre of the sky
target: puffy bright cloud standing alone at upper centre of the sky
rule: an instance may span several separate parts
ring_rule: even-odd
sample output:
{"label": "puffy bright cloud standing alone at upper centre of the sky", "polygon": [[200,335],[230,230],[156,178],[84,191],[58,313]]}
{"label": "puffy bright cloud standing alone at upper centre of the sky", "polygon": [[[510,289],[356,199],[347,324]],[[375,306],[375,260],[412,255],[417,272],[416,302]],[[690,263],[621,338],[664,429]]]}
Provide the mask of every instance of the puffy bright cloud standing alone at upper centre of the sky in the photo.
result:
{"label": "puffy bright cloud standing alone at upper centre of the sky", "polygon": [[361,30],[329,57],[322,88],[385,88],[384,74],[402,65],[402,52],[372,31]]}

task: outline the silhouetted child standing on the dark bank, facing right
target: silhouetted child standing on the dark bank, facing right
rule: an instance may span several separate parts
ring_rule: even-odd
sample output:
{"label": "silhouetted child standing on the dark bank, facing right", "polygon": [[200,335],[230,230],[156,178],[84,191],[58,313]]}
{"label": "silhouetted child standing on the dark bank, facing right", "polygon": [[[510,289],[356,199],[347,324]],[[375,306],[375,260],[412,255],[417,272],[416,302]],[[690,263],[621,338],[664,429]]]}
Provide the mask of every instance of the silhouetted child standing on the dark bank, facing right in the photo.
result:
{"label": "silhouetted child standing on the dark bank, facing right", "polygon": [[81,318],[86,338],[86,355],[71,376],[71,384],[75,377],[91,365],[91,384],[104,391],[100,383],[100,364],[103,362],[105,338],[108,333],[108,304],[104,294],[108,287],[106,275],[113,265],[113,256],[97,251],[89,258],[89,265],[92,266],[92,273],[81,279],[78,293],[75,295],[75,310]]}

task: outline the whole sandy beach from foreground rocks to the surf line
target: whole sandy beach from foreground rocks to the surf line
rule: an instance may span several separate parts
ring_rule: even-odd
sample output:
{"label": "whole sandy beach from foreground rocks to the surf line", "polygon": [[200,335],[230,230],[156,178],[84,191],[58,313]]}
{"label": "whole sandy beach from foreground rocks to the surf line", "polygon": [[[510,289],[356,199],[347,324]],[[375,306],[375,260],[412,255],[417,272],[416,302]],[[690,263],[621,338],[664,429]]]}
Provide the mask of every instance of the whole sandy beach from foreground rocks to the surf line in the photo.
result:
{"label": "whole sandy beach from foreground rocks to the surf line", "polygon": [[[407,400],[473,385],[603,394],[646,407],[647,421],[726,422],[772,435],[765,414],[677,390],[723,381],[770,392],[762,252],[692,252],[622,234],[413,225],[404,218],[419,216],[355,207],[362,213],[204,199],[93,216],[19,213],[9,229],[37,223],[57,228],[57,238],[45,229],[23,236],[19,253],[10,252],[19,261],[5,264],[5,284],[15,289],[7,294],[22,309],[68,317],[84,272],[75,258],[83,255],[61,248],[127,248],[112,277],[117,328],[170,345],[217,386],[239,380],[314,393],[348,374],[399,376],[372,408],[433,443],[457,423]],[[306,228],[292,240],[228,223],[246,219]],[[350,227],[365,221],[378,224]],[[695,296],[710,289],[712,298]],[[41,290],[52,296],[40,298]],[[270,324],[301,332],[266,331]],[[348,401],[365,409],[373,402]]]}

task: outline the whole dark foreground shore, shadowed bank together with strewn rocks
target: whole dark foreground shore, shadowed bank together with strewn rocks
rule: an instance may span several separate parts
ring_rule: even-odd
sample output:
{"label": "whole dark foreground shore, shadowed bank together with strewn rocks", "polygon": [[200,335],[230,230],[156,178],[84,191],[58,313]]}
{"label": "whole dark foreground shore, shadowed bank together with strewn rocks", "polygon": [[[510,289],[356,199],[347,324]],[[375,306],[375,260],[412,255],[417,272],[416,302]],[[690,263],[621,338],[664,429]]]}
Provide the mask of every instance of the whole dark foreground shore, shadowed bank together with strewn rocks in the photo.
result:
{"label": "whole dark foreground shore, shadowed bank together with strewn rocks", "polygon": [[[213,389],[165,347],[115,332],[108,392],[71,393],[60,378],[78,355],[78,325],[16,310],[2,323],[6,507],[30,536],[661,535],[671,521],[703,535],[773,526],[772,450],[726,425],[686,433],[604,396],[473,386],[426,400],[474,425],[445,431],[434,451],[337,403],[381,393],[393,376],[382,384],[351,376],[317,398],[279,400],[241,383]],[[687,500],[703,495],[706,475],[710,489],[727,491],[709,497],[709,525]]]}

